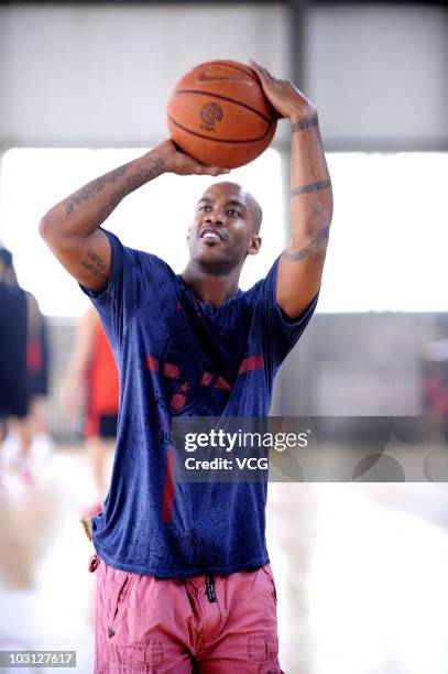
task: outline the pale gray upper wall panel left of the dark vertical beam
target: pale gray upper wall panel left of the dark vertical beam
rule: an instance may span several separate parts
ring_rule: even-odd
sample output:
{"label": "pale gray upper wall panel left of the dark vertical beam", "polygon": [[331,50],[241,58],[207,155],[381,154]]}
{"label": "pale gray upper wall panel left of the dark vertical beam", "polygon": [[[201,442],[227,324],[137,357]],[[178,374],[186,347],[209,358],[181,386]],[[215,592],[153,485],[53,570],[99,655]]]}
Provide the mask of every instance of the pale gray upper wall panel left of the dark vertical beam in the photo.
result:
{"label": "pale gray upper wall panel left of the dark vertical beam", "polygon": [[214,58],[287,69],[278,6],[0,9],[0,145],[146,146],[186,70]]}

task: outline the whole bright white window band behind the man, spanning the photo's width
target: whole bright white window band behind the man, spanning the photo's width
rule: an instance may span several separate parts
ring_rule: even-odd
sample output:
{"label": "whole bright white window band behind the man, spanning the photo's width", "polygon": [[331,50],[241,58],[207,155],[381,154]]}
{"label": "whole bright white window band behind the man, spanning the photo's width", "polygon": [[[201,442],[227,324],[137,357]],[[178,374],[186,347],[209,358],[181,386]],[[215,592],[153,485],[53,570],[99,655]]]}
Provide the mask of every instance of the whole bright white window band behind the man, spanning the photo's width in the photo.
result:
{"label": "whole bright white window band behind the man, spanning the photo's width", "polygon": [[[88,301],[41,240],[41,216],[83,184],[142,152],[13,149],[3,155],[0,238],[14,252],[21,284],[46,314],[78,315]],[[318,311],[447,311],[448,153],[327,156],[335,215]],[[267,150],[229,176],[251,191],[264,211],[262,251],[248,260],[243,289],[265,274],[287,240],[283,175],[280,153]],[[212,181],[165,175],[127,197],[106,227],[127,246],[154,252],[181,272],[195,203]]]}

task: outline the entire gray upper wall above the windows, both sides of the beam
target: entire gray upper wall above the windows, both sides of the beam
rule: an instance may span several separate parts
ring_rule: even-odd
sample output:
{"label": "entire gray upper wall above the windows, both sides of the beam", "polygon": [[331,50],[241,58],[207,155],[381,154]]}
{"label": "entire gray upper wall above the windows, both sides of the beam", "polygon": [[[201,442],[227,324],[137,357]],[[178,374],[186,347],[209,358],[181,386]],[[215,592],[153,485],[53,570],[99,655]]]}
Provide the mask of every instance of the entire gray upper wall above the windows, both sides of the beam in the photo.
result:
{"label": "entire gray upper wall above the windows, both sides of the beam", "polygon": [[447,10],[308,4],[2,7],[0,145],[151,145],[185,70],[253,56],[302,73],[327,148],[447,149]]}

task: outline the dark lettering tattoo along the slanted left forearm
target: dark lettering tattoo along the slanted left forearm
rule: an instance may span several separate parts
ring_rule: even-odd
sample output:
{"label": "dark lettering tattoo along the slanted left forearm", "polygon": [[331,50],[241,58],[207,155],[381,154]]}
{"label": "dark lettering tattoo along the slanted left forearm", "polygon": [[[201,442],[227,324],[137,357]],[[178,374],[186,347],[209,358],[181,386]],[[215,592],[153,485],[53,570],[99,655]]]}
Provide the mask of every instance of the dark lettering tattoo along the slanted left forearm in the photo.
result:
{"label": "dark lettering tattoo along the slanted left forearm", "polygon": [[[124,176],[127,171],[129,171],[133,165],[134,162],[123,164],[123,166],[119,166],[110,173],[107,173],[106,175],[102,175],[101,177],[91,181],[91,183],[88,183],[87,185],[78,189],[78,192],[75,192],[75,194],[67,197],[63,202],[63,206],[65,207],[66,214],[69,215],[70,213],[73,213],[77,206],[80,206],[80,204],[83,204],[84,202],[91,199],[95,195],[102,192],[107,185],[113,185],[113,183],[117,183],[117,181]],[[157,157],[153,160],[147,167],[138,167],[133,171],[133,173],[130,173],[130,175],[124,181],[124,185],[111,196],[110,204],[108,204],[101,210],[101,215],[103,215],[103,217],[100,222],[103,221],[108,215],[110,215],[110,213],[118,206],[118,204],[124,196],[156,177],[161,173],[163,166],[163,159]]]}

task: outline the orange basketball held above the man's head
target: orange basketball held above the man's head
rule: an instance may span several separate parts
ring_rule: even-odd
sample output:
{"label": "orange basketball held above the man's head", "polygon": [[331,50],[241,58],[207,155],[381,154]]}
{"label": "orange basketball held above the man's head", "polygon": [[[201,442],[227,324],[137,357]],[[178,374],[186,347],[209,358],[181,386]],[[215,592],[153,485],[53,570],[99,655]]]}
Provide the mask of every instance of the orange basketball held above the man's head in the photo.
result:
{"label": "orange basketball held above the man's head", "polygon": [[184,75],[167,104],[172,139],[203,164],[236,168],[271,143],[277,115],[258,76],[236,61],[210,61]]}

